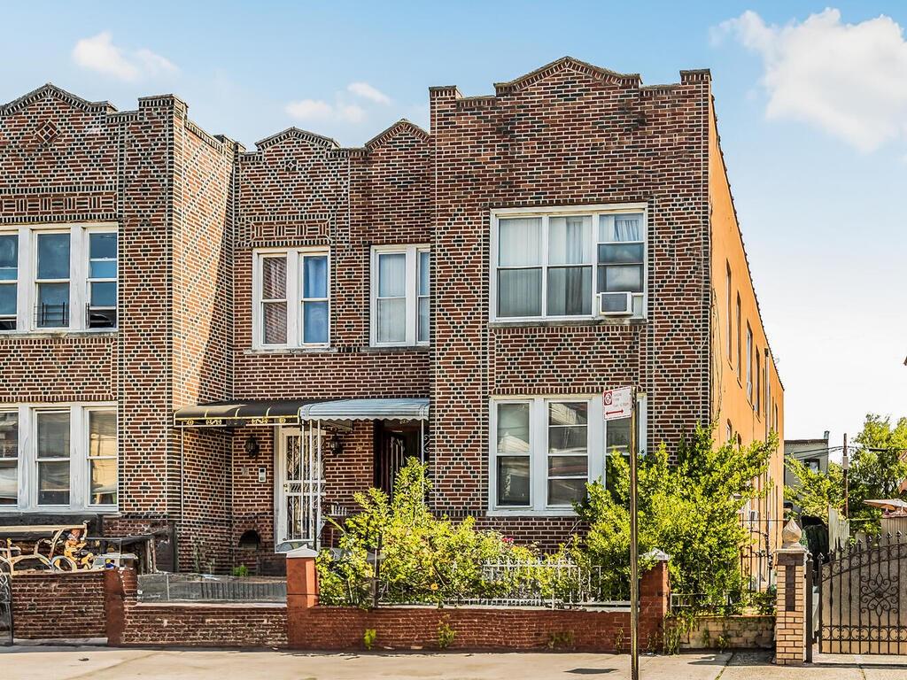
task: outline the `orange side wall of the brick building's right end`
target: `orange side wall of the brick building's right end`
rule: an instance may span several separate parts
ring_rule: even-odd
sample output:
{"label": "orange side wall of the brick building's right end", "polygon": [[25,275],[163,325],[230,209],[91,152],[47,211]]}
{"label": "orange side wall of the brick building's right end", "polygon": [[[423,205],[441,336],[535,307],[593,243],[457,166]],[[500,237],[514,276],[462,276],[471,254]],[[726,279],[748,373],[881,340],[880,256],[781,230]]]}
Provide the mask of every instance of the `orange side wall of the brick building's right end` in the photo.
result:
{"label": "orange side wall of the brick building's right end", "polygon": [[[746,261],[719,144],[714,104],[709,117],[708,170],[715,439],[717,444],[728,440],[746,444],[764,441],[770,432],[777,432],[775,455],[764,479],[756,481],[759,488],[766,490],[766,498],[754,501],[752,505],[752,510],[758,512],[759,531],[765,537],[760,548],[771,554],[780,547],[784,516],[784,386],[768,344]],[[752,338],[751,345],[747,343],[748,336]]]}

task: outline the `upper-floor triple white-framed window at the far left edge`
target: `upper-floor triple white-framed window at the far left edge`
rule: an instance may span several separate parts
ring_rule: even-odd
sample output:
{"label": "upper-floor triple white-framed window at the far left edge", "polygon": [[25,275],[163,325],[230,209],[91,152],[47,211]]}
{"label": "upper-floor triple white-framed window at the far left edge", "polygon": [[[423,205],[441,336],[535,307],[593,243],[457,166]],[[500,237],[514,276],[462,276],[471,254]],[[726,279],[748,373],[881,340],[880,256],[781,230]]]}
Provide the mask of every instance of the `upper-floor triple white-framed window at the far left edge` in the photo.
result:
{"label": "upper-floor triple white-framed window at the far left edge", "polygon": [[115,328],[117,240],[112,224],[0,228],[0,332]]}

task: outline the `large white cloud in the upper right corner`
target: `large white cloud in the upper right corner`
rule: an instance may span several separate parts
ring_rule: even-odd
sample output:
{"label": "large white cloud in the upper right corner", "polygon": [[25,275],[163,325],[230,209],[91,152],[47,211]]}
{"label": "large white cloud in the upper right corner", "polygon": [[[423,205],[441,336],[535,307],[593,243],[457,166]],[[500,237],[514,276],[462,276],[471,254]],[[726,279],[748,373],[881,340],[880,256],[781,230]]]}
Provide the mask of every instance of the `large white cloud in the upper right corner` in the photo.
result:
{"label": "large white cloud in the upper right corner", "polygon": [[814,123],[860,151],[907,139],[907,42],[892,18],[843,24],[826,9],[778,26],[747,10],[713,42],[728,34],[762,56],[767,118]]}

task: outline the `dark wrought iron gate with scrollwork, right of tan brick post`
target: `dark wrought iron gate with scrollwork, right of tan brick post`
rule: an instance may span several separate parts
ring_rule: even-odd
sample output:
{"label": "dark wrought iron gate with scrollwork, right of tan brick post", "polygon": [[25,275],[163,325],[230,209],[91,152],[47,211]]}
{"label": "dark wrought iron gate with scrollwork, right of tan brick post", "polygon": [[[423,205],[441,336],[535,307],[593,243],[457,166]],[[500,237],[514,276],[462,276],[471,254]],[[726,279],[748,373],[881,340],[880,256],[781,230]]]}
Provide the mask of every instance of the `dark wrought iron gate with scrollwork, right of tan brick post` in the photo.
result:
{"label": "dark wrought iron gate with scrollwork, right of tan brick post", "polygon": [[904,540],[889,535],[831,551],[819,577],[819,651],[907,655]]}

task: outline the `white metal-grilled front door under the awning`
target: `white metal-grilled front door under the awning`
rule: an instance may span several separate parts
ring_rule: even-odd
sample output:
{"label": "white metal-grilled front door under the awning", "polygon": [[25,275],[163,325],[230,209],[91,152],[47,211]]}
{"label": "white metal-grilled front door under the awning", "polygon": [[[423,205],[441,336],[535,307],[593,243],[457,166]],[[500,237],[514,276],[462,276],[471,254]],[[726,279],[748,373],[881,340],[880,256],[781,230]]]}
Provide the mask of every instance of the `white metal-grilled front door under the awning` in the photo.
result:
{"label": "white metal-grilled front door under the awning", "polygon": [[318,549],[325,490],[322,432],[308,425],[277,432],[277,542],[298,540]]}

